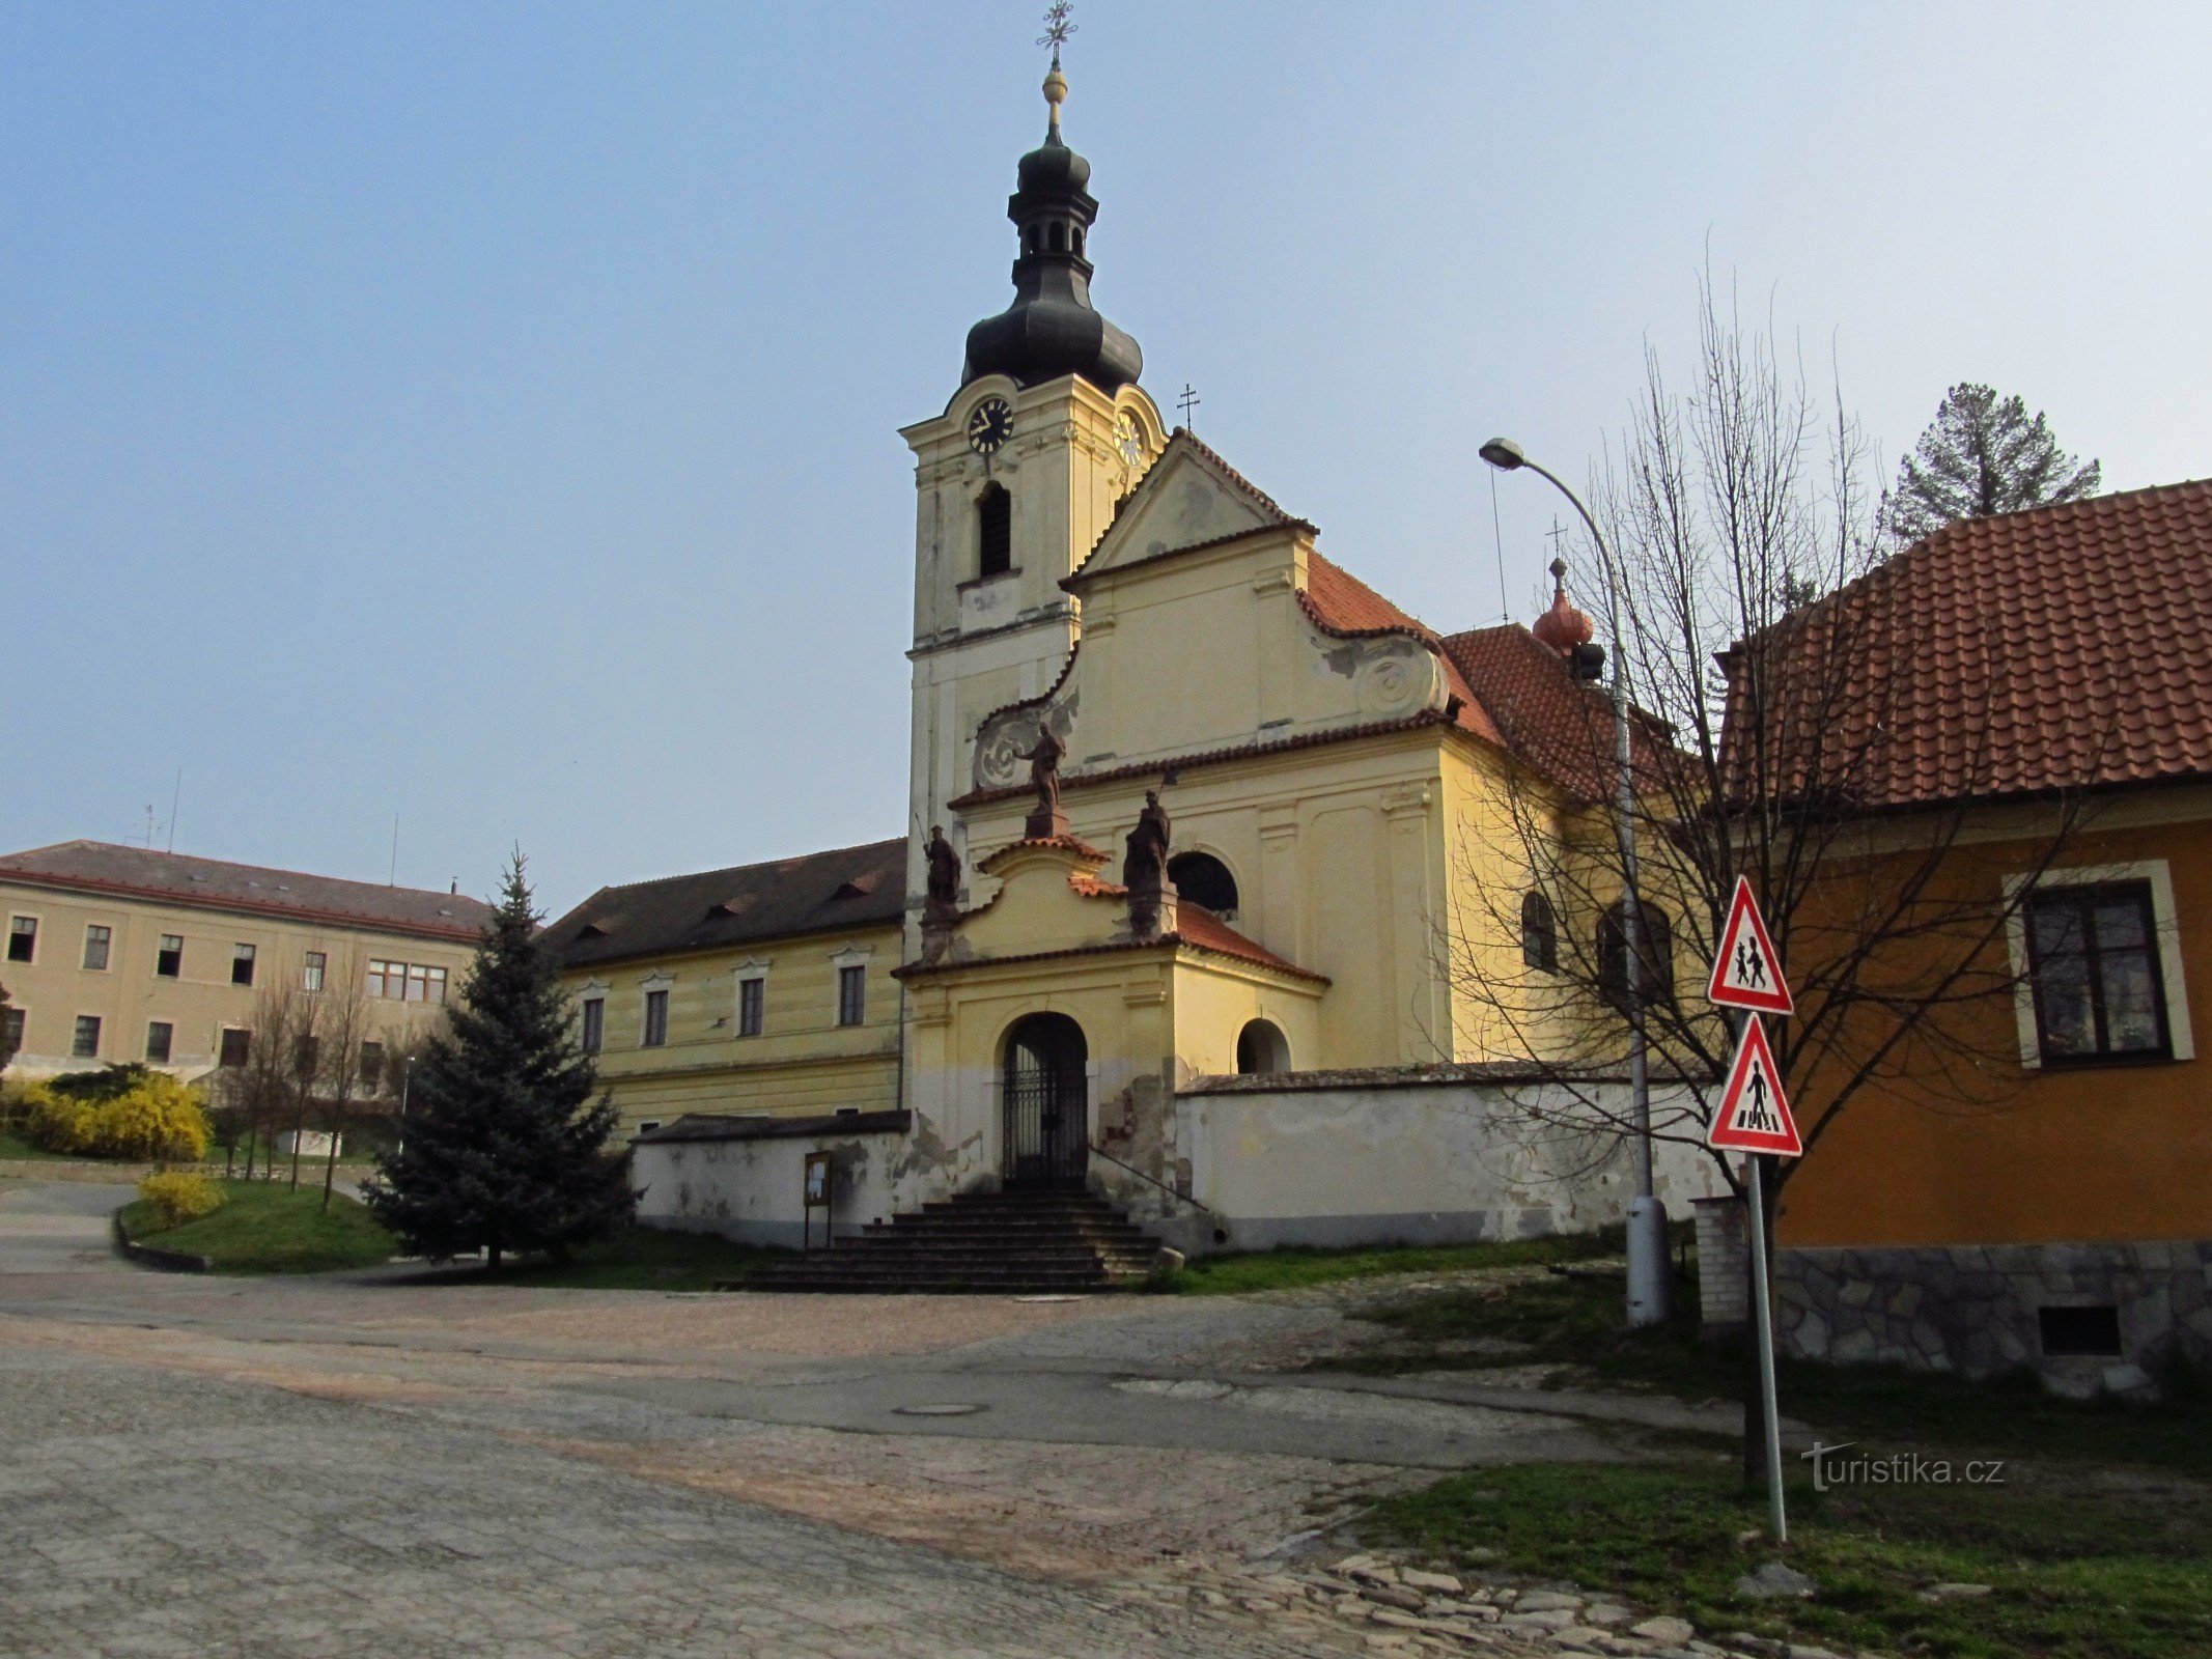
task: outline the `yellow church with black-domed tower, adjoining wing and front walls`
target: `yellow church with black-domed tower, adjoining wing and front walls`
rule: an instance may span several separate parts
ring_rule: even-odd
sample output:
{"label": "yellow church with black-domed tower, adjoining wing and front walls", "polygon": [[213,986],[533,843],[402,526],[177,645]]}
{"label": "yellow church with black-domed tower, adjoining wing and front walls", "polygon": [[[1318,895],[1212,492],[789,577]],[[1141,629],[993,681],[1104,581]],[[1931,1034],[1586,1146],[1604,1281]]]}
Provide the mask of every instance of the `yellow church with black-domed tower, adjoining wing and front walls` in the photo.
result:
{"label": "yellow church with black-domed tower, adjoining wing and front walls", "polygon": [[[1526,1110],[1542,1020],[1464,991],[1467,953],[1542,980],[1586,925],[1522,891],[1509,821],[1571,836],[1601,794],[1571,741],[1590,624],[1562,584],[1533,628],[1440,633],[1168,427],[1091,301],[1066,91],[1055,55],[1006,208],[1013,303],[902,429],[907,834],[606,887],[546,929],[639,1214],[834,1237],[916,1287],[916,1241],[958,1223],[1057,1225],[1097,1243],[1077,1279],[1110,1281],[1139,1241],[1615,1221],[1626,1152]],[[1661,1199],[1681,1214],[1705,1170],[1663,1152]],[[938,1272],[1000,1283],[975,1256]]]}

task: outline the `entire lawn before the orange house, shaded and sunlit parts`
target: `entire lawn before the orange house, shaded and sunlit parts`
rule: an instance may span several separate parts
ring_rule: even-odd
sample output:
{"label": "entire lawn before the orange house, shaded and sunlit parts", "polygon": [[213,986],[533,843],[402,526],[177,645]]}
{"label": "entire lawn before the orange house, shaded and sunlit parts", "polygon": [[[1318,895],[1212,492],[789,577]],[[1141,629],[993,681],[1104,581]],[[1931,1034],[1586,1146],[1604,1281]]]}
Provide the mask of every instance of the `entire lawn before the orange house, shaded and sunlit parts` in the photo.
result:
{"label": "entire lawn before the orange house, shaded and sunlit parts", "polygon": [[[1389,1356],[1367,1371],[1478,1371],[1559,1363],[1573,1376],[1690,1400],[1743,1398],[1741,1345],[1697,1340],[1697,1292],[1672,1325],[1628,1332],[1619,1276],[1500,1274],[1495,1283],[1394,1301]],[[1469,1356],[1469,1338],[1491,1338]],[[1564,1378],[1564,1380],[1571,1380]],[[1378,1540],[1440,1562],[1495,1562],[1626,1595],[1703,1632],[1754,1630],[1820,1646],[1902,1652],[2183,1659],[2212,1652],[2212,1411],[2079,1405],[2033,1378],[1962,1383],[1880,1367],[1783,1363],[1781,1402],[1829,1444],[1944,1462],[1949,1484],[1816,1493],[1790,1458],[1792,1542],[1765,1535],[1734,1442],[1683,1438],[1661,1464],[1531,1464],[1455,1475],[1387,1500]],[[2002,1460],[1966,1484],[1966,1460]],[[1812,1601],[1745,1601],[1739,1575],[1781,1555],[1812,1575]],[[1929,1599],[1938,1584],[1986,1593]]]}

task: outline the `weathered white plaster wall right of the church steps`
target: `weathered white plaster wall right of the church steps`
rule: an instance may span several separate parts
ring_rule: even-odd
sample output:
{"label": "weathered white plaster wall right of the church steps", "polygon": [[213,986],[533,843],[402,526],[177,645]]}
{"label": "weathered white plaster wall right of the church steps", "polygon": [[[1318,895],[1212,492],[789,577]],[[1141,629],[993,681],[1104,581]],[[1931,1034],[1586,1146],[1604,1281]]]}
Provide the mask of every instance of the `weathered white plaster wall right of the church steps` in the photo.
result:
{"label": "weathered white plaster wall right of the church steps", "polygon": [[[1522,1239],[1619,1221],[1635,1197],[1628,1144],[1537,1128],[1533,1093],[1440,1084],[1183,1095],[1175,1144],[1190,1159],[1190,1197],[1210,1214],[1164,1203],[1144,1219],[1201,1252]],[[1624,1084],[1590,1093],[1626,1102]],[[1657,1106],[1663,1117],[1666,1102]],[[1661,1141],[1655,1188],[1672,1217],[1688,1219],[1690,1199],[1719,1186],[1701,1150]]]}

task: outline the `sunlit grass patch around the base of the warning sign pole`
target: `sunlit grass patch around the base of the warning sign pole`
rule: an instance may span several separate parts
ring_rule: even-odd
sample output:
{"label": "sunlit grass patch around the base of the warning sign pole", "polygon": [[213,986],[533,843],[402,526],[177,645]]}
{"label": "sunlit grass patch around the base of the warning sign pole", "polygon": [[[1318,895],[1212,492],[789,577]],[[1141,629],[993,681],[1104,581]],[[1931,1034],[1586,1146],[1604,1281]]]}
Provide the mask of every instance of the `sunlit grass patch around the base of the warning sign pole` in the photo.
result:
{"label": "sunlit grass patch around the base of the warning sign pole", "polygon": [[[1765,1500],[1734,1460],[1661,1467],[1524,1464],[1385,1500],[1371,1535],[1440,1562],[1495,1562],[1613,1590],[1705,1635],[1754,1630],[1818,1646],[1955,1659],[2183,1659],[2212,1652],[2212,1504],[2126,1486],[1792,1491],[1792,1566],[1809,1601],[1745,1601],[1739,1575],[1776,1555]],[[1745,1537],[1750,1535],[1750,1537]],[[1936,1584],[1991,1595],[1929,1604]]]}

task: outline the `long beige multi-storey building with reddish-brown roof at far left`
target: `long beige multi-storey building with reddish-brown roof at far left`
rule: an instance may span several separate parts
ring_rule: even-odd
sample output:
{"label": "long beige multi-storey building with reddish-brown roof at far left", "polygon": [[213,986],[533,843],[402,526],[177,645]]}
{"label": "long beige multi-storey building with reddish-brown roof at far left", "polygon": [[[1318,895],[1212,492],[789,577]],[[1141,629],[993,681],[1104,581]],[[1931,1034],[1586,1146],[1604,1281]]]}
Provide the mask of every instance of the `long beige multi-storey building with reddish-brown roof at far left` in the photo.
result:
{"label": "long beige multi-storey building with reddish-brown roof at far left", "polygon": [[0,856],[11,1077],[243,1064],[272,987],[354,991],[405,1040],[442,1018],[489,907],[458,894],[64,841]]}

